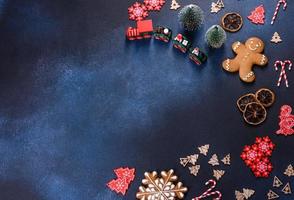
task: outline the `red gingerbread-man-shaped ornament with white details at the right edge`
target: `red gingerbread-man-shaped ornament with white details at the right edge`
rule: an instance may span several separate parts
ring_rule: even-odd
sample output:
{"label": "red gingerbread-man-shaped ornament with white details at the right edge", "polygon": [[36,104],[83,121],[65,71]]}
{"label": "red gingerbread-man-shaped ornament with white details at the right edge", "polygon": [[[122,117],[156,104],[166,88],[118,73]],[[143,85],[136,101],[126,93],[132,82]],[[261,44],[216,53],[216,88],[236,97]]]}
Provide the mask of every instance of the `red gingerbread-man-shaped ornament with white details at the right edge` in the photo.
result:
{"label": "red gingerbread-man-shaped ornament with white details at the right edge", "polygon": [[294,115],[291,114],[292,108],[289,105],[283,105],[280,112],[280,129],[276,132],[285,136],[294,134]]}

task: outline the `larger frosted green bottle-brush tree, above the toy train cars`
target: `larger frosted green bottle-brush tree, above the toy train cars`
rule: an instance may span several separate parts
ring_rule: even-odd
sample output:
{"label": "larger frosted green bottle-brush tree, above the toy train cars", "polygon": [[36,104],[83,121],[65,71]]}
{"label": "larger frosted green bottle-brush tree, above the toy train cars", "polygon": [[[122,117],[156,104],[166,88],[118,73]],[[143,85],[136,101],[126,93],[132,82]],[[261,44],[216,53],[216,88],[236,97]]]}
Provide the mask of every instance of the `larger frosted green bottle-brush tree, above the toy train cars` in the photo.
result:
{"label": "larger frosted green bottle-brush tree, above the toy train cars", "polygon": [[190,4],[180,10],[178,20],[185,30],[195,31],[204,22],[204,12],[199,6]]}

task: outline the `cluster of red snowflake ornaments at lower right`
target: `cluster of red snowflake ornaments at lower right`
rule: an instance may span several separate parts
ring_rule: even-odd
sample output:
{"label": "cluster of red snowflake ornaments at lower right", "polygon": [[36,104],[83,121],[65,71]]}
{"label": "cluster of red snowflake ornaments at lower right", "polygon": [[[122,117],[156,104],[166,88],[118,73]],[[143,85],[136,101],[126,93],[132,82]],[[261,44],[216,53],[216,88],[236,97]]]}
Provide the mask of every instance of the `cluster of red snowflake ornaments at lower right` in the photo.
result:
{"label": "cluster of red snowflake ornaments at lower right", "polygon": [[269,157],[275,148],[269,137],[255,139],[255,144],[245,146],[241,158],[256,177],[268,177],[273,170]]}

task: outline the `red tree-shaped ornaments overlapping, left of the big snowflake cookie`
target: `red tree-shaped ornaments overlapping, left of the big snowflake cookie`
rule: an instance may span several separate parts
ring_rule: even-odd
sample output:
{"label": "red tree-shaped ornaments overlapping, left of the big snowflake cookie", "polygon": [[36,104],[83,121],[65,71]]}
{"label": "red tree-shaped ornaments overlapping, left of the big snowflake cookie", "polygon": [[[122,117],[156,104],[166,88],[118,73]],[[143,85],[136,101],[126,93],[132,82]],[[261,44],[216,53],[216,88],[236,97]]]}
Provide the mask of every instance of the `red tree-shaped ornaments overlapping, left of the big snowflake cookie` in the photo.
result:
{"label": "red tree-shaped ornaments overlapping, left of the big snowflake cookie", "polygon": [[111,180],[107,183],[107,186],[116,193],[121,193],[125,195],[129,189],[130,183],[135,178],[135,169],[134,168],[118,168],[114,170],[114,173],[117,176],[117,179]]}

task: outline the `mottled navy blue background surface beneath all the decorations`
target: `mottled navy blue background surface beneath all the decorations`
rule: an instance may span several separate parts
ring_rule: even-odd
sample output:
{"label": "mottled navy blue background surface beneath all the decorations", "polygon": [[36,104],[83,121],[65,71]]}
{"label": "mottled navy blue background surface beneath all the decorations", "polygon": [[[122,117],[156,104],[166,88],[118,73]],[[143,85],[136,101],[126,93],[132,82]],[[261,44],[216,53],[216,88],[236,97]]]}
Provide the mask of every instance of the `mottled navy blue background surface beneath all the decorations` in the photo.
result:
{"label": "mottled navy blue background surface beneath all the decorations", "polygon": [[[202,157],[199,176],[192,177],[178,159],[206,143],[210,153],[231,153],[232,165],[218,184],[225,200],[243,187],[256,190],[252,199],[266,199],[274,175],[294,188],[294,180],[282,175],[294,164],[293,136],[274,134],[280,106],[294,106],[294,74],[288,73],[289,89],[277,88],[279,73],[273,68],[277,59],[294,61],[293,1],[274,26],[274,0],[224,0],[219,14],[209,12],[211,1],[179,1],[191,2],[206,15],[201,30],[190,34],[209,56],[200,67],[171,44],[125,41],[125,28],[134,26],[127,16],[130,0],[0,1],[1,200],[132,200],[145,171],[170,168],[189,187],[191,199],[205,189],[212,169]],[[169,4],[149,18],[180,32]],[[260,4],[266,24],[256,26],[246,16]],[[244,17],[243,28],[229,33],[223,48],[209,50],[205,31],[229,11]],[[275,31],[283,43],[269,42]],[[232,42],[250,36],[265,41],[269,65],[255,67],[256,82],[244,84],[225,73],[221,62],[233,56]],[[251,127],[235,102],[261,87],[273,89],[277,100],[266,122]],[[256,179],[239,155],[244,145],[265,135],[277,144],[274,171],[269,179]],[[105,186],[120,166],[137,170],[125,197]]]}

